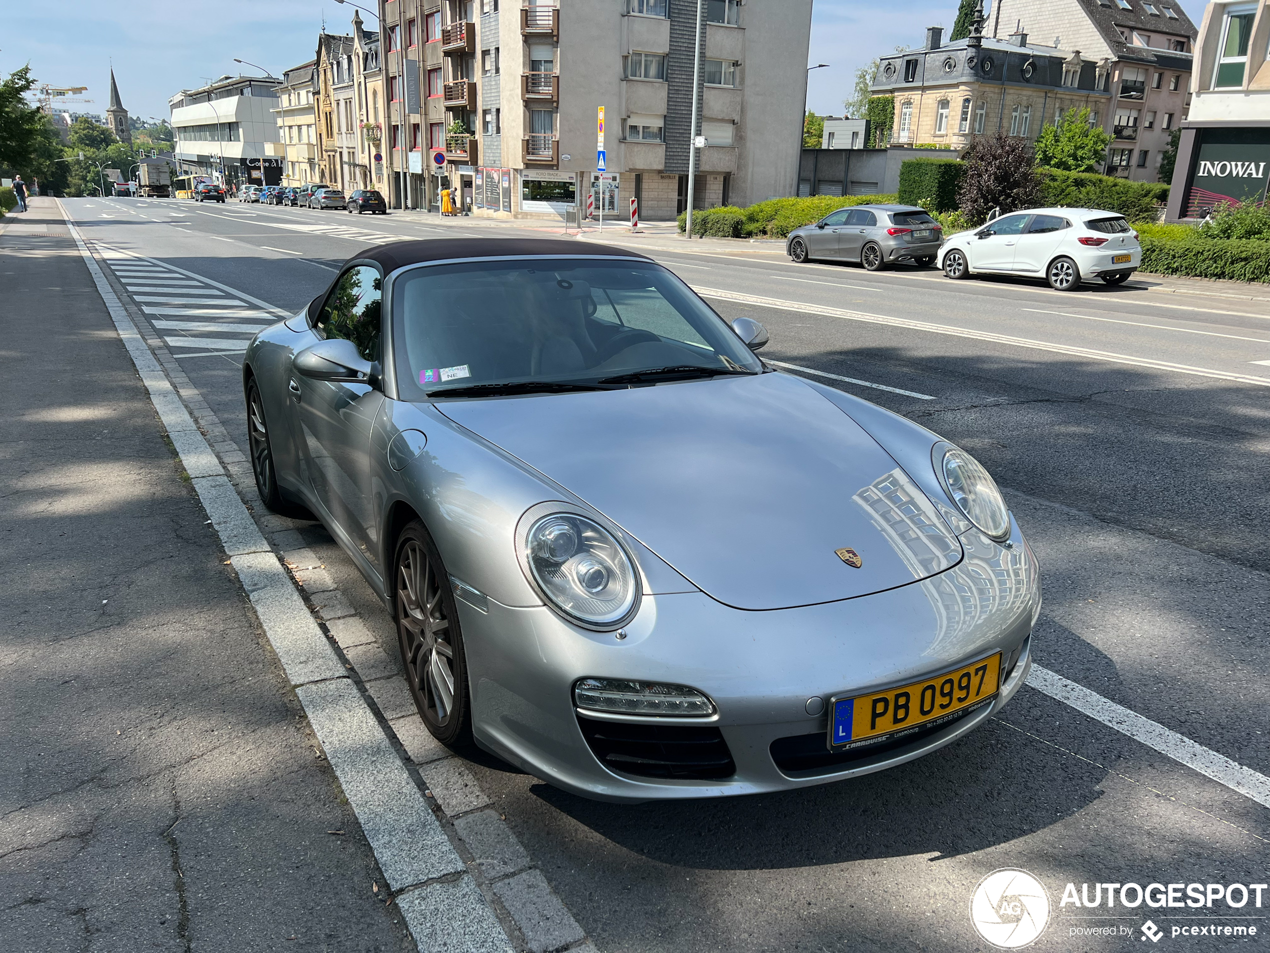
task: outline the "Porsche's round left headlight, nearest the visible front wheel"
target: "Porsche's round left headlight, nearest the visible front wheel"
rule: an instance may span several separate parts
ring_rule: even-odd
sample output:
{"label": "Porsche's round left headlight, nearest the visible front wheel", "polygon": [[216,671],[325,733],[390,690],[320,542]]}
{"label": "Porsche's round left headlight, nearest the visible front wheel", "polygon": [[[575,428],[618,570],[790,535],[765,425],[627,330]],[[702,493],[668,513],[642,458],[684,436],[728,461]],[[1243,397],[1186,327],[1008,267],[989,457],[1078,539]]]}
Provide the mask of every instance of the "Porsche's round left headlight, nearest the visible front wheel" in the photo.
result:
{"label": "Porsche's round left headlight, nearest the visible front wheel", "polygon": [[635,567],[597,522],[574,513],[530,527],[526,555],[533,581],[566,615],[588,625],[622,621],[635,605]]}

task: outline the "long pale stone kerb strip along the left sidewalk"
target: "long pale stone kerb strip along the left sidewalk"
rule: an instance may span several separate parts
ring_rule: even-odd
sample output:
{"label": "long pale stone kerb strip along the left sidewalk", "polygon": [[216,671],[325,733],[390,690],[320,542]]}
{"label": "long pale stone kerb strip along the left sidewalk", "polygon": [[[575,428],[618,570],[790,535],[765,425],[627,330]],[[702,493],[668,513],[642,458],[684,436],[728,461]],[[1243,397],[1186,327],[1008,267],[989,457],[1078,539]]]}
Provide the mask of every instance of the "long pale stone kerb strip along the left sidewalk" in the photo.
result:
{"label": "long pale stone kerb strip along the left sidewalk", "polygon": [[[65,206],[62,213],[410,931],[422,938],[436,933],[437,923],[446,921],[455,925],[444,936],[455,949],[509,953],[511,944],[475,888],[462,858],[357,686],[349,681],[348,671],[225,476],[163,366],[110,290]],[[457,879],[438,882],[455,875]],[[457,892],[456,884],[465,889]]]}

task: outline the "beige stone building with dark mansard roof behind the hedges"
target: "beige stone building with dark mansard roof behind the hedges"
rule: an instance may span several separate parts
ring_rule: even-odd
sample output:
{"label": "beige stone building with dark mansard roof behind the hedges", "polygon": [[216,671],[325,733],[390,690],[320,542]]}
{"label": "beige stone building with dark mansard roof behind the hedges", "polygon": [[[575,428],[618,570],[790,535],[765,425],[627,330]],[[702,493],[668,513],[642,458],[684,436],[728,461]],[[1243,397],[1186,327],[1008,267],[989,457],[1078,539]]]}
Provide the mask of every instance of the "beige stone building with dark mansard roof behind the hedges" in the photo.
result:
{"label": "beige stone building with dark mansard roof behind the hedges", "polygon": [[1106,58],[1041,46],[1021,30],[1002,42],[982,36],[979,25],[951,43],[931,27],[921,48],[879,60],[871,90],[895,98],[890,145],[960,150],[974,136],[997,133],[1035,140],[1046,123],[1080,108],[1088,108],[1091,123],[1106,121]]}

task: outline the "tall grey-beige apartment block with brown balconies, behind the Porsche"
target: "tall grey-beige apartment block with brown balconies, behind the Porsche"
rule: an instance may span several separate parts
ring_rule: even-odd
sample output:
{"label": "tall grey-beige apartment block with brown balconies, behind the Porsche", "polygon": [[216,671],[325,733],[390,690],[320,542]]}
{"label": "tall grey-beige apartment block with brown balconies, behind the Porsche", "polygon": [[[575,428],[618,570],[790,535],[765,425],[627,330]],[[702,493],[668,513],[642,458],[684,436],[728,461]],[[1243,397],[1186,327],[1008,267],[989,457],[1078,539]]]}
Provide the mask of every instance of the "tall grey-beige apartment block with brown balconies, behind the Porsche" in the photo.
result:
{"label": "tall grey-beige apartment block with brown balconies, behind the Porsche", "polygon": [[[810,0],[381,0],[380,9],[406,53],[410,22],[419,24],[423,50],[403,57],[405,103],[396,118],[392,97],[392,122],[410,123],[396,135],[409,139],[411,168],[429,170],[429,198],[451,184],[475,215],[559,219],[591,193],[606,215],[625,217],[638,198],[644,219],[671,219],[687,207],[696,136],[705,139],[696,207],[794,193]],[[410,108],[413,69],[423,112]]]}

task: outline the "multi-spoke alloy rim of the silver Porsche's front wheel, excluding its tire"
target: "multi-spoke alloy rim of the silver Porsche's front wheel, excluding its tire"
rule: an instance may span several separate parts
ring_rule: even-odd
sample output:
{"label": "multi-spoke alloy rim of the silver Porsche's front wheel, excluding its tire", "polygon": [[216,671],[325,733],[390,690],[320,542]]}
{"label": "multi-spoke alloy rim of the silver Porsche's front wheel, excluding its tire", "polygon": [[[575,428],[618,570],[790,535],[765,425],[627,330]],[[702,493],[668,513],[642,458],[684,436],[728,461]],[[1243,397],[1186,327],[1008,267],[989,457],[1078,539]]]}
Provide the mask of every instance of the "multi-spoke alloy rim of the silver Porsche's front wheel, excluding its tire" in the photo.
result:
{"label": "multi-spoke alloy rim of the silver Porsche's front wheel, excluding its tire", "polygon": [[442,585],[424,548],[418,540],[406,540],[398,555],[401,659],[411,687],[423,699],[423,717],[434,728],[448,727],[455,714],[455,648]]}

